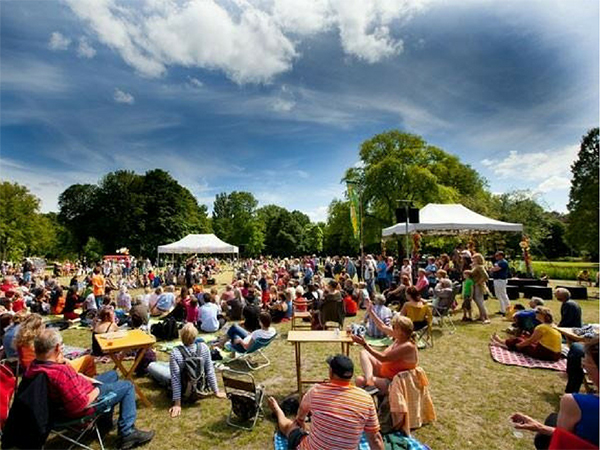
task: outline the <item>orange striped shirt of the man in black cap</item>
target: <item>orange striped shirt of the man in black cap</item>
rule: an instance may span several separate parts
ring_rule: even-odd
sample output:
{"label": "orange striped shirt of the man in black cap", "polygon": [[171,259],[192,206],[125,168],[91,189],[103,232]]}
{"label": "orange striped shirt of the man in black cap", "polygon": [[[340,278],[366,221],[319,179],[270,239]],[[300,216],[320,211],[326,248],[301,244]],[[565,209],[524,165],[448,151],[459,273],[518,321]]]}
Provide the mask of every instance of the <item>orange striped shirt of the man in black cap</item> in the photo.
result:
{"label": "orange striped shirt of the man in black cap", "polygon": [[308,402],[312,424],[310,434],[300,443],[301,450],[354,450],[363,431],[379,431],[373,399],[349,383],[317,384],[302,402]]}

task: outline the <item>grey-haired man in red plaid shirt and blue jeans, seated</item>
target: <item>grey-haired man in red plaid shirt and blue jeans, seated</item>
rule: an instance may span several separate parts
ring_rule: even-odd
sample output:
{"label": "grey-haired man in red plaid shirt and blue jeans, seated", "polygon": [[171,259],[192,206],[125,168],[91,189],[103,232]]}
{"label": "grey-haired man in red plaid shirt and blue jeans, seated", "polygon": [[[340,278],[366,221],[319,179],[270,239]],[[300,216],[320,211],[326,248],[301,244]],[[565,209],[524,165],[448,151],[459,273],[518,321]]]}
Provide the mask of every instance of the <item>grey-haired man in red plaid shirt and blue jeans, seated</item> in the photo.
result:
{"label": "grey-haired man in red plaid shirt and blue jeans, seated", "polygon": [[117,446],[126,450],[152,440],[153,431],[135,428],[135,390],[131,381],[119,380],[114,370],[98,375],[96,379],[78,374],[69,364],[64,364],[63,341],[56,329],[43,330],[35,338],[34,346],[35,360],[25,372],[25,378],[32,379],[39,374],[45,374],[48,379],[49,399],[67,418],[87,414],[90,405],[113,392],[116,396],[110,401],[112,409],[100,419],[100,428],[112,428],[113,410],[119,405]]}

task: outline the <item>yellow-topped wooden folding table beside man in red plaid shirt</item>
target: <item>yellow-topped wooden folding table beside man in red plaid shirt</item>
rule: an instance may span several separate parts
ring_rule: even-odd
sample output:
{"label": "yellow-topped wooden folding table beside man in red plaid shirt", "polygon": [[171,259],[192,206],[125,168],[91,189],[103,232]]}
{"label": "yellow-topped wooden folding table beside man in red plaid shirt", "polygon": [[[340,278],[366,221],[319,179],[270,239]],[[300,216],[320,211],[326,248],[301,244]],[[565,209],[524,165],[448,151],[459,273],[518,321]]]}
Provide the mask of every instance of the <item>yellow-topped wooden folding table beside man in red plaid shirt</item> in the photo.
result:
{"label": "yellow-topped wooden folding table beside man in red plaid shirt", "polygon": [[[142,390],[133,379],[133,373],[142,361],[144,354],[156,342],[156,338],[142,330],[117,331],[115,333],[97,334],[96,339],[103,353],[106,353],[115,363],[115,369],[123,374],[126,380],[133,383],[135,392],[146,406],[152,406]],[[133,365],[127,370],[123,365],[123,358],[128,351],[137,351]]]}

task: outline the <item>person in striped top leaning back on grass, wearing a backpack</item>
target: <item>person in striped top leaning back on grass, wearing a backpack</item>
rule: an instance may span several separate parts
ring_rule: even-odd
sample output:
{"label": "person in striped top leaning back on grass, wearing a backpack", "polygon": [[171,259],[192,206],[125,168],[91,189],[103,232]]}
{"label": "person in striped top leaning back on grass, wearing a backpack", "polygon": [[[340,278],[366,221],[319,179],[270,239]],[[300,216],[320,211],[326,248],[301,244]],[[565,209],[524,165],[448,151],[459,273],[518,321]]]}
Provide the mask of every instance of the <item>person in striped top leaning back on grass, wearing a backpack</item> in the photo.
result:
{"label": "person in striped top leaning back on grass, wearing a backpack", "polygon": [[[210,389],[214,392],[216,397],[225,398],[225,393],[219,391],[219,386],[217,385],[217,377],[215,375],[215,369],[208,346],[204,342],[196,342],[198,329],[193,323],[186,323],[179,335],[183,345],[173,348],[168,364],[162,361],[155,361],[148,365],[148,374],[150,377],[161,386],[171,388],[173,400],[173,406],[169,409],[171,418],[178,417],[181,414],[181,384],[184,351],[187,351],[190,355],[200,355],[208,386],[210,386]],[[181,347],[184,347],[185,350],[182,350]]]}

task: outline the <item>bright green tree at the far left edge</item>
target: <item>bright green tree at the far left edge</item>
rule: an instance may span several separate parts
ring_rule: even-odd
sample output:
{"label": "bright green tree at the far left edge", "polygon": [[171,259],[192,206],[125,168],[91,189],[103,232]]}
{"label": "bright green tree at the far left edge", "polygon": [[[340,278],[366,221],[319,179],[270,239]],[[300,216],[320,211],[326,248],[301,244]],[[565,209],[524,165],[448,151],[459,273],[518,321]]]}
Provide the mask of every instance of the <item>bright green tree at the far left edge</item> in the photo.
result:
{"label": "bright green tree at the far left edge", "polygon": [[0,253],[3,259],[31,254],[39,231],[40,200],[25,186],[0,183]]}

